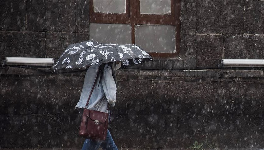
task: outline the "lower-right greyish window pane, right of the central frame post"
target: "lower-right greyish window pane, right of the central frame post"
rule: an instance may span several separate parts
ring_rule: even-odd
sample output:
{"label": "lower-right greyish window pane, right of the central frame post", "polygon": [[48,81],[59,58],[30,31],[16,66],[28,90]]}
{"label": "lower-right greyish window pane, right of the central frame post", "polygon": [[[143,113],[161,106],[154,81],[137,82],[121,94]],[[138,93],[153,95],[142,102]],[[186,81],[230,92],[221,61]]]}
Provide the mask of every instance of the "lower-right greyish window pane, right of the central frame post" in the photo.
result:
{"label": "lower-right greyish window pane, right of the central frame post", "polygon": [[175,26],[138,25],[135,44],[147,52],[175,52]]}

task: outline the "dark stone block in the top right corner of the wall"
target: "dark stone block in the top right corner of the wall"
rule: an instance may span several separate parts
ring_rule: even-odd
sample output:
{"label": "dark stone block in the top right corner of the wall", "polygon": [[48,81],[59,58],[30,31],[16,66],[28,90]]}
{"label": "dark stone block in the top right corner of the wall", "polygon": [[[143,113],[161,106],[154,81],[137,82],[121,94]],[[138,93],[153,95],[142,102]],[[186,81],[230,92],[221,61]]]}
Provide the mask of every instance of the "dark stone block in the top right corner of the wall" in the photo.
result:
{"label": "dark stone block in the top right corner of the wall", "polygon": [[245,1],[245,33],[264,34],[264,1]]}

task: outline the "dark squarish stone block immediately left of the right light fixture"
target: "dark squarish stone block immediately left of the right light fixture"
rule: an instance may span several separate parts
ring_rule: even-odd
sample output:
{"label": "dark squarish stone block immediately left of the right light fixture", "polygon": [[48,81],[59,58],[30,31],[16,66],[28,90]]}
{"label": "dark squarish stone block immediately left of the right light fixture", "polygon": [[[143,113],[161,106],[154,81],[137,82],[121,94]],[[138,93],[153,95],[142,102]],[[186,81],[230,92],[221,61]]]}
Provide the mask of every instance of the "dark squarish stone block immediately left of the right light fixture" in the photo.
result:
{"label": "dark squarish stone block immediately left of the right light fixture", "polygon": [[223,55],[222,35],[197,35],[197,67],[218,67]]}

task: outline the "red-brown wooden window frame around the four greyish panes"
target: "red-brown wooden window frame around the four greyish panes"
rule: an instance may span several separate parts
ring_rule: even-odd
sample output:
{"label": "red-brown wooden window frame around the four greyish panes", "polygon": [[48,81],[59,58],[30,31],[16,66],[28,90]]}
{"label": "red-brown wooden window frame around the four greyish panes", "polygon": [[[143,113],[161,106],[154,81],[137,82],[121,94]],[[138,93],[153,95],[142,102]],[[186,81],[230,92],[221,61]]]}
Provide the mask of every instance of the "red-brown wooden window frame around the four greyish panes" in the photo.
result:
{"label": "red-brown wooden window frame around the four greyish panes", "polygon": [[[134,11],[133,11],[134,10]],[[126,13],[106,14],[93,11],[93,0],[89,3],[90,23],[101,24],[129,24],[132,27],[132,44],[135,44],[135,26],[140,24],[175,25],[175,53],[153,53],[154,58],[173,58],[180,53],[180,0],[171,0],[171,14],[149,15],[141,14],[139,0],[126,0]]]}

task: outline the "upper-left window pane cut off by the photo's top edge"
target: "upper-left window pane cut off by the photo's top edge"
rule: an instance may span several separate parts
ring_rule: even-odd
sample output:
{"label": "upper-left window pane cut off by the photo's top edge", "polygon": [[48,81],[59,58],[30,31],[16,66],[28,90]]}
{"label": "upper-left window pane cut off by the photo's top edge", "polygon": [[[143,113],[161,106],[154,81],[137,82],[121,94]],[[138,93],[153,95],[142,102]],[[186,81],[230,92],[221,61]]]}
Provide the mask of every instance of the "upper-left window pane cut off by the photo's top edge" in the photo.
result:
{"label": "upper-left window pane cut off by the photo's top edge", "polygon": [[126,13],[125,0],[93,0],[93,11],[102,13]]}

